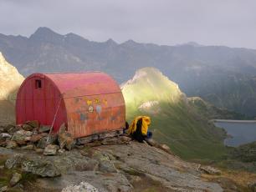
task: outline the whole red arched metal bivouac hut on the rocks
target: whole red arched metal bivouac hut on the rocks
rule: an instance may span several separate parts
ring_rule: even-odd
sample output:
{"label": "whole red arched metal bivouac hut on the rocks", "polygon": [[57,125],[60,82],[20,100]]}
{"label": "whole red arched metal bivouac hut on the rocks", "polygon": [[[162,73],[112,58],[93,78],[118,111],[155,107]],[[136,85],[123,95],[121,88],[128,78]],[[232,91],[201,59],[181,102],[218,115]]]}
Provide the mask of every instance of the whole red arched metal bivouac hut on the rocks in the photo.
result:
{"label": "whole red arched metal bivouac hut on the rocks", "polygon": [[18,90],[16,121],[38,120],[58,132],[61,124],[75,139],[125,128],[125,101],[109,75],[33,73]]}

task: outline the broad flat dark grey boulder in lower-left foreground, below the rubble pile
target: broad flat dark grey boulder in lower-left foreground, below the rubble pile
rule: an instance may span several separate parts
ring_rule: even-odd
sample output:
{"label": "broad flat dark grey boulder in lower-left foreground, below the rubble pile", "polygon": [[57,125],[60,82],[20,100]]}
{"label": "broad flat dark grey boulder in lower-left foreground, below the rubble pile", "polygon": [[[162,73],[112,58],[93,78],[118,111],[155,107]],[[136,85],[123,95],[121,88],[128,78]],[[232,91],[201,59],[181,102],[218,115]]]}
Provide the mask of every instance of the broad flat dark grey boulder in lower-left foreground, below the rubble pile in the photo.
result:
{"label": "broad flat dark grey boulder in lower-left foreground, below the rubble pile", "polygon": [[40,177],[56,177],[60,175],[59,169],[51,161],[45,159],[25,160],[22,164],[22,170]]}

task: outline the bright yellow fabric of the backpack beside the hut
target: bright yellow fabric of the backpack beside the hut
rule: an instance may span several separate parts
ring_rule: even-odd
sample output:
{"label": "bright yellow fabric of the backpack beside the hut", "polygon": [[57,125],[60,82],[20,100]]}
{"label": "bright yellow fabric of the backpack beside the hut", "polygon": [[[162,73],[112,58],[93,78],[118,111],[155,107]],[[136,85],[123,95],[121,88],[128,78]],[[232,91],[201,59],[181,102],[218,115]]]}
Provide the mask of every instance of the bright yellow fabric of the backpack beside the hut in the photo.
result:
{"label": "bright yellow fabric of the backpack beside the hut", "polygon": [[130,125],[127,134],[133,134],[134,132],[136,132],[137,129],[137,122],[139,119],[142,119],[142,124],[141,124],[141,133],[143,135],[147,134],[147,129],[148,126],[151,124],[151,118],[147,117],[147,116],[138,116],[136,117],[136,119],[134,119],[132,121],[132,124]]}

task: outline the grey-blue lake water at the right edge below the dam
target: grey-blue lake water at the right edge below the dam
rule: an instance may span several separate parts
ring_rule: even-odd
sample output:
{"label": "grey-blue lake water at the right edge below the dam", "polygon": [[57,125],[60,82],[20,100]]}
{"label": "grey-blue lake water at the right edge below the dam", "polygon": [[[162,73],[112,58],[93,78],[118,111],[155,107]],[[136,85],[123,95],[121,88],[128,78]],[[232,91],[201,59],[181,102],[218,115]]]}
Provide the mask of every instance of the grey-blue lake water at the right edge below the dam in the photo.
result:
{"label": "grey-blue lake water at the right edge below the dam", "polygon": [[216,122],[216,126],[225,129],[233,138],[225,139],[224,144],[237,147],[256,141],[256,123],[223,123]]}

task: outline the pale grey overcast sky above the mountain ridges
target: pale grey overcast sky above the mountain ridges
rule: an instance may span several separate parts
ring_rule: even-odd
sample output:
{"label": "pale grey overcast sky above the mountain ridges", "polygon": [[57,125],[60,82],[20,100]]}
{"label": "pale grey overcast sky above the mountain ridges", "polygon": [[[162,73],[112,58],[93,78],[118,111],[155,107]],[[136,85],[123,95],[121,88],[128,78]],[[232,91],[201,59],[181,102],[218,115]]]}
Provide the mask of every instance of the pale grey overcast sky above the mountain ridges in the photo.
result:
{"label": "pale grey overcast sky above the mountain ridges", "polygon": [[256,48],[256,0],[0,0],[0,33]]}

